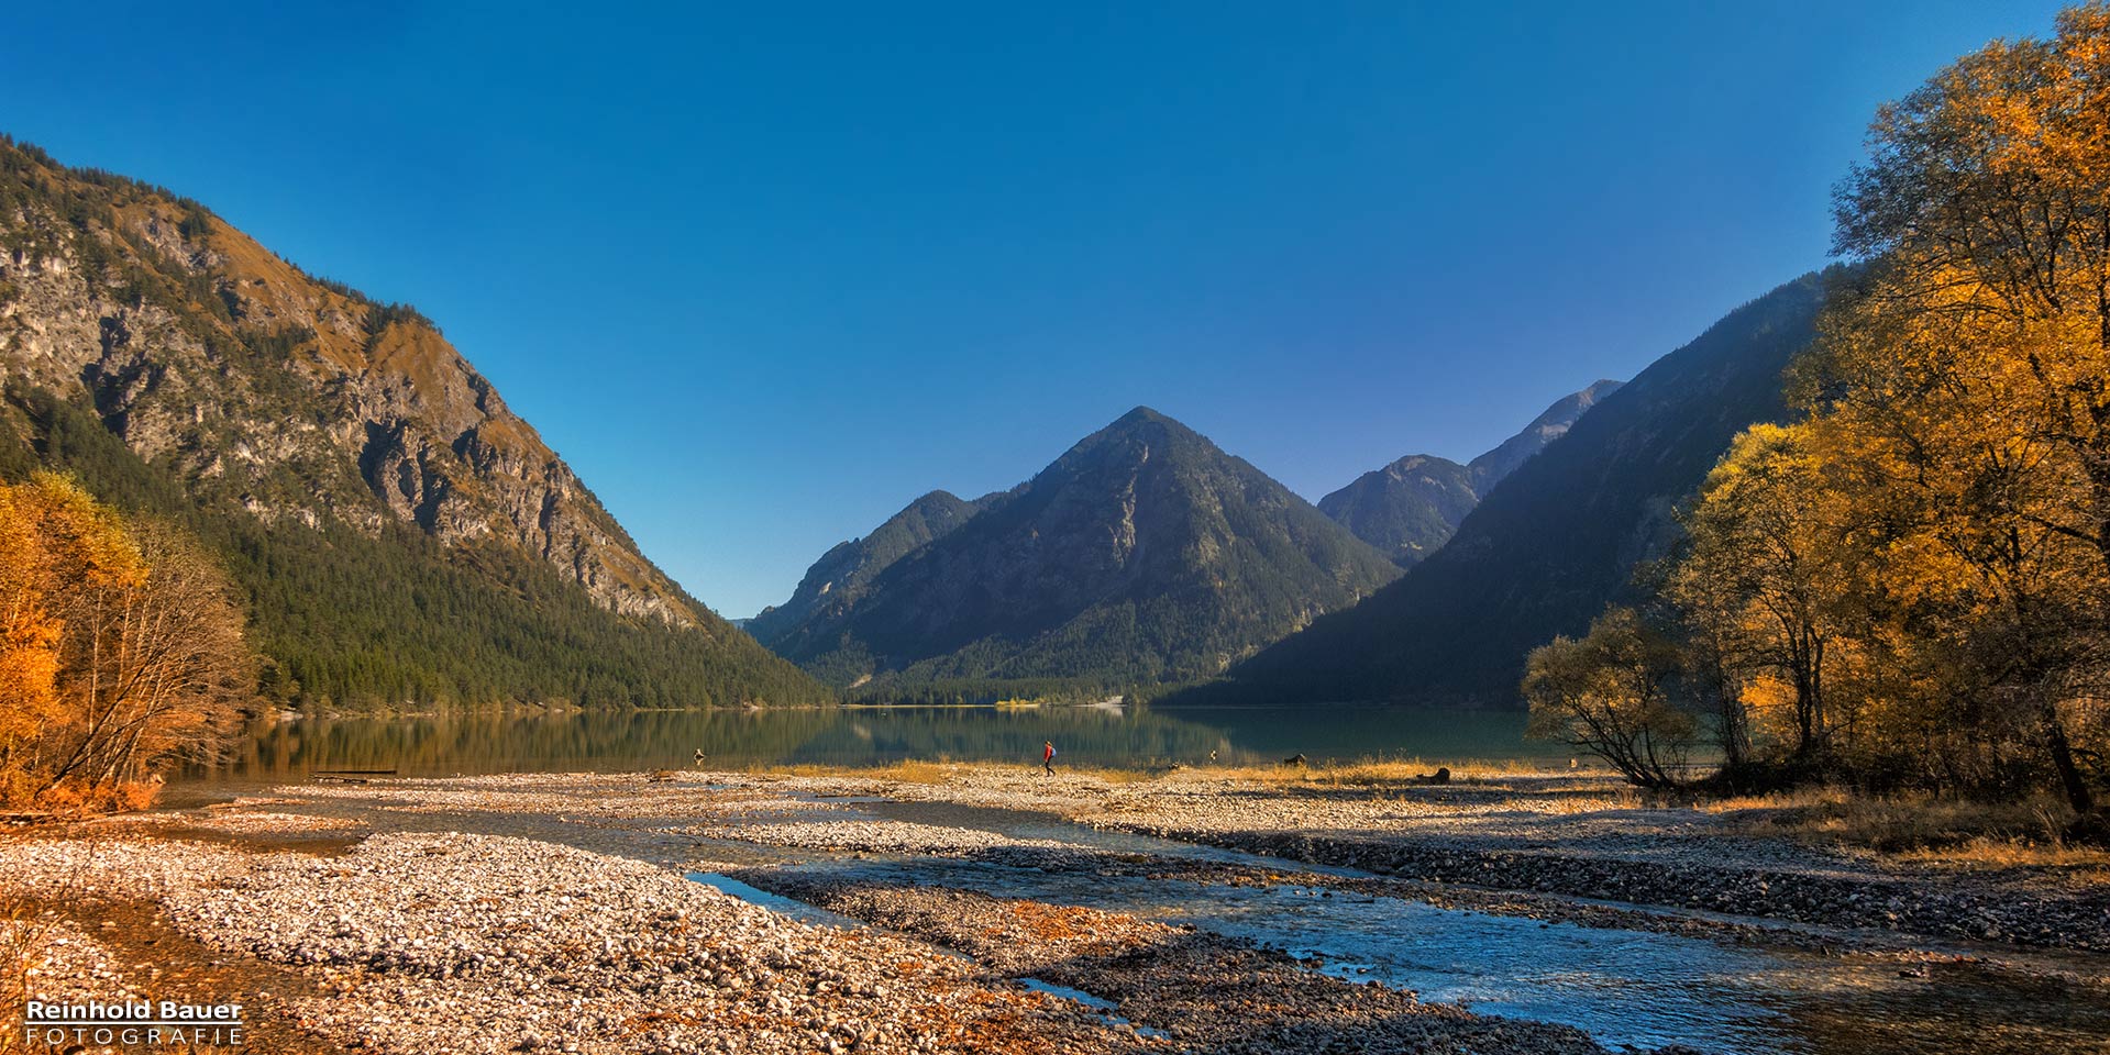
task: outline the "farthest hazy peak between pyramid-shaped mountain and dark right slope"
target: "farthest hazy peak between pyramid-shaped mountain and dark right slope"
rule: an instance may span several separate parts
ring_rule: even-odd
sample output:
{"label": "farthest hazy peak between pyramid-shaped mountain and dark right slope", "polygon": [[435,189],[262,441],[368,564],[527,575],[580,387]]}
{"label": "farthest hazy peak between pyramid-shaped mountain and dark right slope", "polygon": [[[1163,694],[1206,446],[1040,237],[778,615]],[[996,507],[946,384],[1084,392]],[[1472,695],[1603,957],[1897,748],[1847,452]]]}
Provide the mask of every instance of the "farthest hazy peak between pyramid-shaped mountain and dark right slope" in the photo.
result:
{"label": "farthest hazy peak between pyramid-shaped mountain and dark right slope", "polygon": [[1545,414],[1471,464],[1433,454],[1409,454],[1384,468],[1363,473],[1346,487],[1319,500],[1319,513],[1334,517],[1357,538],[1412,568],[1450,540],[1479,496],[1494,490],[1530,456],[1553,443],[1620,382],[1597,382],[1561,397]]}

